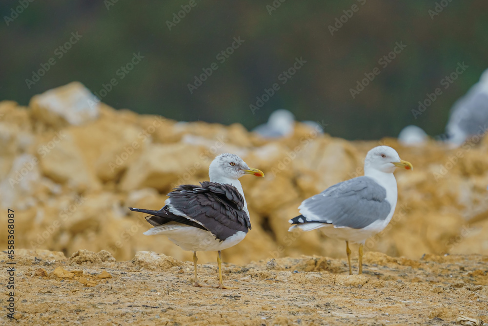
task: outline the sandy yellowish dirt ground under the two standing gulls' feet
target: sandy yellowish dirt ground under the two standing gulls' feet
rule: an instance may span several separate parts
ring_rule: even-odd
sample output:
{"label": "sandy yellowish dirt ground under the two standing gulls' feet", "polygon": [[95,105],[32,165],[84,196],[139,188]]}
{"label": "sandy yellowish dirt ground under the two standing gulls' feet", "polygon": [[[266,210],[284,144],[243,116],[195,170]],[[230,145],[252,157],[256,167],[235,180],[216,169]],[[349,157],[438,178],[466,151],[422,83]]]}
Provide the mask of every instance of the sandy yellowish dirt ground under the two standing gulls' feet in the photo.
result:
{"label": "sandy yellowish dirt ground under the two standing gulls' feet", "polygon": [[[0,254],[3,266],[8,260]],[[105,251],[71,258],[18,250],[17,325],[482,325],[488,315],[487,256],[425,255],[418,261],[368,252],[364,275],[346,259],[303,256],[224,265],[237,290],[197,288],[193,263],[153,252],[117,262]],[[353,260],[357,274],[357,260]],[[216,263],[198,265],[217,283]]]}

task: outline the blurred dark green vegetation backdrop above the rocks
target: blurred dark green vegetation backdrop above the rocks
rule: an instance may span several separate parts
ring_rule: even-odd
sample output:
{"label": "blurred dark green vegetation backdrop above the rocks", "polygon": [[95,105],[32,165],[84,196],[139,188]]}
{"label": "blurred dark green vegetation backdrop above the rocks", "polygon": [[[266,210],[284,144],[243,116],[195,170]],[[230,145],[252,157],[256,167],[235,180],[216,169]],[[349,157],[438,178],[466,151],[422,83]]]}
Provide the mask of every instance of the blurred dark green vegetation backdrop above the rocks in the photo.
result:
{"label": "blurred dark green vegetation backdrop above the rocks", "polygon": [[[99,93],[115,78],[102,101],[117,109],[251,129],[284,108],[298,120],[324,120],[334,136],[378,139],[409,124],[443,133],[451,105],[488,66],[486,0],[195,1],[171,30],[167,21],[189,0],[33,1],[8,25],[20,2],[2,1],[0,99],[26,105],[71,81]],[[448,5],[432,19],[436,2]],[[281,5],[270,14],[273,3]],[[328,26],[354,4],[357,12],[331,35]],[[59,58],[55,50],[72,32],[82,37]],[[221,63],[216,56],[234,37],[244,43]],[[383,68],[378,60],[396,42],[407,47]],[[117,71],[133,53],[144,58],[121,79]],[[27,87],[52,57],[56,64]],[[297,57],[306,64],[282,85],[279,75]],[[411,110],[458,62],[468,69],[414,119]],[[187,85],[212,63],[218,69],[190,94]],[[353,99],[350,88],[374,67],[381,73]],[[252,114],[249,105],[274,83],[280,89]]]}

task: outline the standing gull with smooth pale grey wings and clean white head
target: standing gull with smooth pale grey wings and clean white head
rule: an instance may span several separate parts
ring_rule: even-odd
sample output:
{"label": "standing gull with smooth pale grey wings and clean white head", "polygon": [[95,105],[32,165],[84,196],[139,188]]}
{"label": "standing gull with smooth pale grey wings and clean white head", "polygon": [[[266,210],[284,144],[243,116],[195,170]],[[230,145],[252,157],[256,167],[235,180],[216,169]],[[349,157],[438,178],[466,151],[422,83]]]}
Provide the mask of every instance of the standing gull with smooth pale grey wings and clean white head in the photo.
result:
{"label": "standing gull with smooth pale grey wings and clean white head", "polygon": [[349,274],[349,241],[359,243],[359,274],[363,273],[363,245],[367,238],[388,225],[397,202],[396,167],[411,170],[388,146],[370,150],[365,159],[365,175],[337,183],[322,193],[305,199],[298,207],[302,215],[290,219],[288,231],[322,228],[325,235],[346,241]]}

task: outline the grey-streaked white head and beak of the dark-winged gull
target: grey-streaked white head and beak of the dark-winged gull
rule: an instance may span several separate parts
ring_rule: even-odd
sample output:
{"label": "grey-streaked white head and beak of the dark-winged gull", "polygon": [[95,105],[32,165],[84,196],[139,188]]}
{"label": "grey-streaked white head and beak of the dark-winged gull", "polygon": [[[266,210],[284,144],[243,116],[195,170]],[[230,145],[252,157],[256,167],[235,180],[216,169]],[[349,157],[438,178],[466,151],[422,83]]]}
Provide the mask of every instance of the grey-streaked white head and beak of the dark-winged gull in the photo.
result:
{"label": "grey-streaked white head and beak of the dark-winged gull", "polygon": [[236,154],[223,153],[214,158],[208,169],[210,181],[221,182],[223,179],[239,179],[244,174],[264,176],[258,169],[249,168]]}

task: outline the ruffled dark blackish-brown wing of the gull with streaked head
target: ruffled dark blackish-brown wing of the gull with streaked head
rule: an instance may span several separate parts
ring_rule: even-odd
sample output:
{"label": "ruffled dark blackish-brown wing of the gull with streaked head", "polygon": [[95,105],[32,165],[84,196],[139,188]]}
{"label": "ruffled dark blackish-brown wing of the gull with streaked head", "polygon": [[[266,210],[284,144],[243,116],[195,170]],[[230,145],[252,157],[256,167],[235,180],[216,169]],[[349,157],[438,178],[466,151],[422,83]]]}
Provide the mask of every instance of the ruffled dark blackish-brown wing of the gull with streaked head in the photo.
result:
{"label": "ruffled dark blackish-brown wing of the gull with streaked head", "polygon": [[168,196],[169,211],[183,213],[221,241],[251,229],[244,198],[234,186],[205,181],[200,186],[179,186]]}

